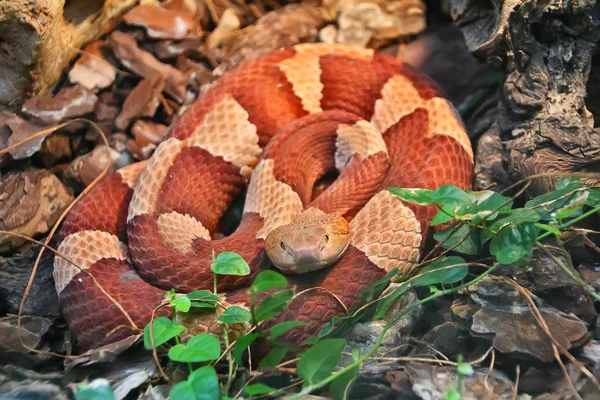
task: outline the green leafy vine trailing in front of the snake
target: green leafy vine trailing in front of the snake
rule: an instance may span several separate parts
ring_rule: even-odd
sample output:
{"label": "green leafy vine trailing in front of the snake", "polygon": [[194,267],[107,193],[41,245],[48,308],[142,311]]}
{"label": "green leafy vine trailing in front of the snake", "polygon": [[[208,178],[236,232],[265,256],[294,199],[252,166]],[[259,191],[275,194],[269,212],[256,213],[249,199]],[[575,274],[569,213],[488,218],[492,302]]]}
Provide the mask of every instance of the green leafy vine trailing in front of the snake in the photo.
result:
{"label": "green leafy vine trailing in front of the snake", "polygon": [[[426,257],[419,264],[418,273],[412,277],[401,277],[397,270],[391,271],[359,294],[365,304],[363,307],[348,315],[334,317],[317,334],[297,347],[291,347],[278,339],[290,329],[304,325],[304,322],[287,321],[269,329],[262,327],[264,321],[277,317],[286,310],[295,293],[283,275],[271,270],[263,271],[248,289],[251,295],[249,309],[229,307],[218,318],[223,326],[223,343],[207,334],[196,335],[186,344],[179,343],[178,335],[184,331],[184,327],[176,322],[176,312],[186,313],[192,308],[222,307],[216,290],[218,275],[250,273],[246,261],[236,253],[224,252],[216,257],[213,255],[211,269],[214,272],[214,290],[198,290],[187,295],[168,292],[165,302],[173,310],[172,318],[156,318],[144,329],[146,348],[169,346],[169,359],[187,364],[190,371],[187,380],[173,385],[170,398],[209,400],[228,399],[229,395],[236,398],[286,395],[288,399],[298,399],[328,386],[335,400],[346,399],[365,361],[375,354],[385,333],[397,321],[422,304],[472,285],[494,272],[500,265],[509,264],[517,268],[526,266],[536,248],[553,257],[591,296],[600,299],[594,289],[585,285],[569,266],[563,265],[542,243],[544,239],[553,236],[560,245],[561,234],[565,229],[597,213],[600,210],[600,189],[584,185],[578,179],[563,178],[558,181],[555,191],[535,197],[520,208],[513,207],[513,200],[499,193],[462,190],[452,185],[436,190],[390,188],[389,191],[406,202],[438,208],[431,224],[444,226],[444,229],[434,235],[437,246],[445,249],[444,254],[433,259]],[[491,265],[469,263],[463,256],[446,254],[451,250],[465,257],[491,254],[494,262]],[[567,260],[570,258],[567,257]],[[471,280],[465,281],[472,264],[486,268]],[[391,293],[381,296],[392,280],[399,285]],[[429,295],[401,312],[388,316],[390,304],[414,287],[429,288]],[[344,332],[359,319],[366,318],[386,322],[375,345],[363,355],[353,351],[352,361],[345,367],[336,369],[346,343],[342,338]],[[240,323],[247,324],[250,329],[235,343],[229,343],[227,332],[232,325]],[[295,362],[296,373],[301,379],[299,384],[302,385],[297,393],[252,381],[246,383],[239,392],[230,393],[236,367],[242,366],[244,354],[259,339],[265,340],[271,349],[259,363],[259,369],[276,367],[291,353],[296,356],[294,360],[286,362],[286,365]],[[227,379],[219,380],[215,364],[223,358],[227,359],[229,368]],[[462,356],[458,359],[457,369],[458,385],[456,389],[448,391],[449,400],[461,398],[462,379],[473,373],[472,366],[464,363]]]}

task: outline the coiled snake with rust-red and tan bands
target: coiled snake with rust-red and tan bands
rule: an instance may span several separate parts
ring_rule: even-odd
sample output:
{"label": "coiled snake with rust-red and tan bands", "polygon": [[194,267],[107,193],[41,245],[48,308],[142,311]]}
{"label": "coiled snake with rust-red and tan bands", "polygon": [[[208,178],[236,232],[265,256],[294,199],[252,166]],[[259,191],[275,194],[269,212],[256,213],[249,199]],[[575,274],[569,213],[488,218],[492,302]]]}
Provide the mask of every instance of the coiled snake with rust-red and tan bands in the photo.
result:
{"label": "coiled snake with rust-red and tan bands", "polygon": [[[373,49],[275,50],[180,114],[148,160],[104,177],[61,225],[54,281],[82,350],[139,333],[165,315],[169,290],[213,290],[223,252],[250,267],[219,275],[223,307],[249,307],[248,287],[268,269],[301,289],[273,318],[304,322],[282,337],[300,343],[388,272],[418,267],[437,209],[388,188],[472,188],[471,142],[447,95]],[[233,204],[243,212],[223,234]],[[207,317],[194,332],[216,325]]]}

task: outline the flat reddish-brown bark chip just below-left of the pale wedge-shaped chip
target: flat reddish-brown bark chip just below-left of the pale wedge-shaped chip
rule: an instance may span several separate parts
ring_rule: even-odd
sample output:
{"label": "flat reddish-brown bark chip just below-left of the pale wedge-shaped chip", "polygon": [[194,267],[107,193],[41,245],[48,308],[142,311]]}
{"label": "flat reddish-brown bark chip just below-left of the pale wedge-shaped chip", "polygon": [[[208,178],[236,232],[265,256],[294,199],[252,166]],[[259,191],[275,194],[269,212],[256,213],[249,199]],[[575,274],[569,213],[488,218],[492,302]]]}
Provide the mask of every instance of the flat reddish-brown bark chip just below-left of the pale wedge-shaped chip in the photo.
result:
{"label": "flat reddish-brown bark chip just below-left of the pale wedge-shaped chip", "polygon": [[38,124],[58,124],[94,111],[98,97],[82,86],[67,86],[56,96],[29,98],[21,109]]}

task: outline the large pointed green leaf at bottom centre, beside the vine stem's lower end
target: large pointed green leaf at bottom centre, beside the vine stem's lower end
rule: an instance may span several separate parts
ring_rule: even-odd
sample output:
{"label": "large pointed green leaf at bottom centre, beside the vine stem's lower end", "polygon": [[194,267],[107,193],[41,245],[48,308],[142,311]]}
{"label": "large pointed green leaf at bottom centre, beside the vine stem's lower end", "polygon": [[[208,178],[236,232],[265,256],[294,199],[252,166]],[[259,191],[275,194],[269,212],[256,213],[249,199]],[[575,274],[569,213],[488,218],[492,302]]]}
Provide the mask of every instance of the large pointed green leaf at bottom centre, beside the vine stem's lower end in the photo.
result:
{"label": "large pointed green leaf at bottom centre, beside the vine stem's lower end", "polygon": [[331,375],[344,344],[344,339],[323,339],[300,355],[296,371],[300,378],[306,380],[304,386],[320,382]]}

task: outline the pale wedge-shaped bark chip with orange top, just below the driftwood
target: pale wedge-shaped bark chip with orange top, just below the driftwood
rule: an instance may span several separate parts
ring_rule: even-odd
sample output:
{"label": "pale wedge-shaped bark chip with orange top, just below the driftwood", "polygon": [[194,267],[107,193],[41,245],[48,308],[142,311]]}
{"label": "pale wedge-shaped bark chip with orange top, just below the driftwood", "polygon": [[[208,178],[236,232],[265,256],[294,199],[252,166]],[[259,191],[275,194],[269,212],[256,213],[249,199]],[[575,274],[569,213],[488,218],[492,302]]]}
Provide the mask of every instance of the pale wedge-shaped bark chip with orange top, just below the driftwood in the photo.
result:
{"label": "pale wedge-shaped bark chip with orange top, just below the driftwood", "polygon": [[112,85],[117,71],[110,64],[104,40],[95,40],[83,49],[83,54],[69,71],[69,82],[87,90],[103,89]]}

